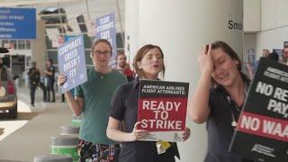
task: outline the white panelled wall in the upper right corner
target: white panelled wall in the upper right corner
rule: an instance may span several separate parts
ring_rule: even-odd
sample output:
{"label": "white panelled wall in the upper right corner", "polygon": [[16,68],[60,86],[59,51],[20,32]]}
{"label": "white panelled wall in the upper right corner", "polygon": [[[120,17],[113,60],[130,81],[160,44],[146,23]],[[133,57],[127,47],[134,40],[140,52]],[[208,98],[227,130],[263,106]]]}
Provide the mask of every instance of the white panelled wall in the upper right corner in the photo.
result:
{"label": "white panelled wall in the upper right corner", "polygon": [[257,32],[257,53],[262,49],[283,49],[288,40],[288,1],[261,0],[261,31]]}

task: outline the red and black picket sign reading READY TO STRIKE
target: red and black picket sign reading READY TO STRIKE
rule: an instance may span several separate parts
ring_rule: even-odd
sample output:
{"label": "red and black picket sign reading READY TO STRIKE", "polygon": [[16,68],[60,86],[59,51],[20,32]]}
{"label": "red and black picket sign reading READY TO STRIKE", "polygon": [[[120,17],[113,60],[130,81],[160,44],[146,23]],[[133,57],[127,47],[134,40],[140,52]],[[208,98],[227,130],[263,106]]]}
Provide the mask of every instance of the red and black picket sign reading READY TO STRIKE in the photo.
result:
{"label": "red and black picket sign reading READY TO STRIKE", "polygon": [[138,121],[149,135],[139,140],[182,141],[189,84],[140,80]]}

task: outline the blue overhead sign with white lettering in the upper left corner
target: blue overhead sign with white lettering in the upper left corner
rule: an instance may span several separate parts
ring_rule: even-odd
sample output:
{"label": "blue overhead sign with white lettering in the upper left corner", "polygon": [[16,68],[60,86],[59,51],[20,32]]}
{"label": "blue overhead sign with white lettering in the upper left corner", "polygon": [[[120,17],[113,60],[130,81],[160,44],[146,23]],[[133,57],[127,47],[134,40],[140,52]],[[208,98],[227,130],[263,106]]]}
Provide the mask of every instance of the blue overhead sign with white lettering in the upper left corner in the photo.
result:
{"label": "blue overhead sign with white lettering in the upper left corner", "polygon": [[36,9],[0,7],[0,39],[36,39]]}

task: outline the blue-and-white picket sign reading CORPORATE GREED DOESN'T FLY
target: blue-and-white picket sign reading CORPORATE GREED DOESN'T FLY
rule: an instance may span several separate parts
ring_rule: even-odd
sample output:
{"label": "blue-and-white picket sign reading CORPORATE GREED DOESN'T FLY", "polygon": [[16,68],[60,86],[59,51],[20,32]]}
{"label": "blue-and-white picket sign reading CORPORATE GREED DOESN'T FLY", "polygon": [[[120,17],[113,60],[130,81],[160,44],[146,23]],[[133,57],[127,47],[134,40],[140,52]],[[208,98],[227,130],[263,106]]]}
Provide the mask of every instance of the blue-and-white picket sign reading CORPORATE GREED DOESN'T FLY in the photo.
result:
{"label": "blue-and-white picket sign reading CORPORATE GREED DOESN'T FLY", "polygon": [[58,47],[58,68],[59,74],[67,76],[67,81],[61,85],[61,93],[65,93],[87,81],[82,36],[68,40]]}

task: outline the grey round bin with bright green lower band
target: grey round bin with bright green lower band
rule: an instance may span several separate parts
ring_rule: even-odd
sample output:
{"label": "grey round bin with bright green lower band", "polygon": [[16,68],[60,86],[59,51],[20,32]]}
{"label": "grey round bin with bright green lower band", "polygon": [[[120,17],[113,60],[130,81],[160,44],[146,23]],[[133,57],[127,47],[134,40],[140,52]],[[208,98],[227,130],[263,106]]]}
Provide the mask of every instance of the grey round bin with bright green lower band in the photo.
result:
{"label": "grey round bin with bright green lower band", "polygon": [[73,161],[78,161],[78,142],[79,138],[76,136],[63,135],[51,137],[50,153],[69,156],[73,158]]}

